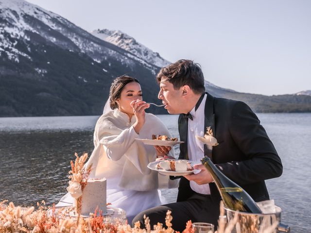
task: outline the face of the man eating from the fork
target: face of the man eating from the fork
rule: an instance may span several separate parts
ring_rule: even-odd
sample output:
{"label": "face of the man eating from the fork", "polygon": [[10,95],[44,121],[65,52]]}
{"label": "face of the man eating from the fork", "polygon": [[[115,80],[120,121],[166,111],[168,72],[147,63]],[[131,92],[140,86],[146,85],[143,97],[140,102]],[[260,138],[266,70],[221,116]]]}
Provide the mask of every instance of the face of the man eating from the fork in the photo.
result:
{"label": "face of the man eating from the fork", "polygon": [[182,88],[174,89],[169,81],[165,81],[166,77],[161,78],[160,91],[157,96],[165,104],[165,109],[169,114],[183,113]]}

